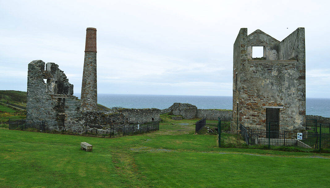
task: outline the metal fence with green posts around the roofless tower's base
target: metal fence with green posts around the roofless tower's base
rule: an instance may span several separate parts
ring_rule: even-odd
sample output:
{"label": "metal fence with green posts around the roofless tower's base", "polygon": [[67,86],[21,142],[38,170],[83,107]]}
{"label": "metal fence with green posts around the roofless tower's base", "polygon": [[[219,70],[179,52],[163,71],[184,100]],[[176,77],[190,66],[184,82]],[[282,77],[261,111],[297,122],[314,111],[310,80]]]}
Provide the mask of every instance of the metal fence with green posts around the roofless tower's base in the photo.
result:
{"label": "metal fence with green posts around the roofless tower's base", "polygon": [[[312,150],[330,149],[330,124],[278,124],[240,123],[237,133],[221,132],[219,147],[248,147],[250,145],[302,147]],[[267,127],[268,126],[268,127]],[[226,136],[223,136],[225,134]],[[257,147],[258,148],[258,147]]]}

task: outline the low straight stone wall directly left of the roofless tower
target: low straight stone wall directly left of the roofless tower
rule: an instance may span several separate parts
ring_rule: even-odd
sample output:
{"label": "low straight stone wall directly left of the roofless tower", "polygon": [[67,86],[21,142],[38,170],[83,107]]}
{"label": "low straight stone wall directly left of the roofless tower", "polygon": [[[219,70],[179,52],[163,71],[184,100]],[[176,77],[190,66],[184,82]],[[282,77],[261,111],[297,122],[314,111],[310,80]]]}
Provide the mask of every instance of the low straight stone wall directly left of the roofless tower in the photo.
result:
{"label": "low straight stone wall directly left of the roofless tower", "polygon": [[207,110],[207,109],[198,109],[197,118],[206,118],[208,120],[218,120],[218,117],[221,119],[231,119],[232,110]]}

